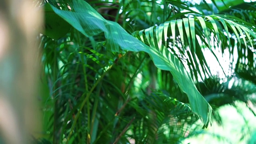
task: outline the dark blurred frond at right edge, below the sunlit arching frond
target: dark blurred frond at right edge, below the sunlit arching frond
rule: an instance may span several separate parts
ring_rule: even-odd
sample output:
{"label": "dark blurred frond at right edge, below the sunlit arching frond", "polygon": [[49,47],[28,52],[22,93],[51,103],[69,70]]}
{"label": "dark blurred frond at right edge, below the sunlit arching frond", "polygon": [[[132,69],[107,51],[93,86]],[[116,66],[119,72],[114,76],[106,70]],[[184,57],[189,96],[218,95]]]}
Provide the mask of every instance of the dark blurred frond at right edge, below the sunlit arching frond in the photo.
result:
{"label": "dark blurred frond at right edge, below the sunlit arching frond", "polygon": [[209,78],[199,85],[202,95],[210,104],[222,106],[232,104],[239,100],[247,103],[248,100],[255,101],[252,96],[256,93],[255,84],[241,78],[229,78],[226,82],[220,82],[218,78]]}

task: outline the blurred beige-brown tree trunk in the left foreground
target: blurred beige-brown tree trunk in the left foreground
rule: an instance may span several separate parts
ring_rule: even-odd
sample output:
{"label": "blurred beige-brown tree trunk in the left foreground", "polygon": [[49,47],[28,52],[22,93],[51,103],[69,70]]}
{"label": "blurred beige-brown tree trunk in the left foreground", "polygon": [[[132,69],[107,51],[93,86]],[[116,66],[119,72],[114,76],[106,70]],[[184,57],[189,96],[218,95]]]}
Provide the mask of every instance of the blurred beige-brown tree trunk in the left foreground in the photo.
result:
{"label": "blurred beige-brown tree trunk in the left foreground", "polygon": [[33,0],[0,0],[0,143],[26,144],[40,129],[35,80],[41,24]]}

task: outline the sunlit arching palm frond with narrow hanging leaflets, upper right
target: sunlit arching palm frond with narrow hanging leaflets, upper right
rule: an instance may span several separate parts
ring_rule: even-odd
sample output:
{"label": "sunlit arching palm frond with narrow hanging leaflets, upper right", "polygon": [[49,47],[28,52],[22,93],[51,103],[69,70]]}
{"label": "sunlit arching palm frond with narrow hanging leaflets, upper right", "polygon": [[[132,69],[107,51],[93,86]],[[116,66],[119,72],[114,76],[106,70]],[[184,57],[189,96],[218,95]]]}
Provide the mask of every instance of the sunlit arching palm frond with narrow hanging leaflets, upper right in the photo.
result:
{"label": "sunlit arching palm frond with narrow hanging leaflets, upper right", "polygon": [[[256,29],[243,22],[240,19],[234,21],[226,15],[196,16],[165,22],[160,26],[135,32],[134,35],[162,54],[172,53],[180,56],[180,59],[189,65],[191,75],[197,80],[197,73],[202,73],[200,70],[203,70],[204,77],[206,74],[210,76],[210,68],[203,56],[204,48],[211,50],[218,62],[213,49],[220,47],[222,53],[228,49],[232,54],[234,40],[238,41],[238,54],[242,48],[248,51],[254,49]],[[202,75],[200,77],[202,78]]]}

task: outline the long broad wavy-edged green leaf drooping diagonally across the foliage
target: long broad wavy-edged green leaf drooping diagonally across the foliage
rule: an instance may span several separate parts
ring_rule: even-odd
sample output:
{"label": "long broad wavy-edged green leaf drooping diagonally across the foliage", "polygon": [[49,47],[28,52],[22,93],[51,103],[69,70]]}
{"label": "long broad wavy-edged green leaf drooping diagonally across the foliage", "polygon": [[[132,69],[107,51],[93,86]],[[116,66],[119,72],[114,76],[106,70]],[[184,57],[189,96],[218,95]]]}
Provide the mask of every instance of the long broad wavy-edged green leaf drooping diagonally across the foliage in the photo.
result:
{"label": "long broad wavy-edged green leaf drooping diagonally across the foliage", "polygon": [[[151,47],[149,47],[142,43],[143,40],[141,42],[128,34],[116,22],[105,20],[88,3],[80,0],[74,1],[73,4],[74,12],[58,10],[57,8],[54,8],[54,6],[52,6],[52,9],[56,14],[66,20],[85,36],[94,36],[100,32],[104,32],[106,37],[106,46],[111,48],[112,51],[119,51],[119,48],[121,48],[122,50],[134,52],[147,52],[158,68],[162,70],[169,70],[172,73],[181,90],[188,95],[192,112],[200,117],[204,122],[204,126],[207,128],[211,119],[212,107],[198,92],[192,78],[185,70],[182,63],[173,54],[166,50],[166,46],[162,46],[160,43],[162,42],[160,41],[160,39],[162,39],[162,35],[159,33],[157,34],[158,36],[156,36],[156,34],[152,32],[153,29],[156,29],[155,27],[145,30],[147,41],[153,42],[150,43]],[[161,32],[164,29],[164,26],[158,27],[157,31]],[[157,37],[157,40],[159,41],[152,40],[153,37]],[[162,48],[162,50],[158,50],[156,48]]]}

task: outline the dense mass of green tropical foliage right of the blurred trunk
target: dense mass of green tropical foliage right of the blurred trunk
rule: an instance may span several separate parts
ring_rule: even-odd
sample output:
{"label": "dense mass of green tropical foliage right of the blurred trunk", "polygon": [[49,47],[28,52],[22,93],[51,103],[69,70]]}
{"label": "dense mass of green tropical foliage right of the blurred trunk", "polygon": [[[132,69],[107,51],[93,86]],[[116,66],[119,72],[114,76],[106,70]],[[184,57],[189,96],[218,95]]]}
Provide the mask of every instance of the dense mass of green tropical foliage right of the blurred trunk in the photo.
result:
{"label": "dense mass of green tropical foliage right of the blurred trunk", "polygon": [[[228,51],[228,80],[256,84],[255,4],[234,1],[42,2],[42,61],[50,89],[43,96],[43,140],[178,143],[196,120],[209,125],[211,92],[223,98],[212,102],[217,107],[232,103],[224,102],[230,95],[247,102],[247,90],[219,94],[232,90],[212,81],[205,55],[210,51],[222,66],[218,56]],[[209,92],[214,86],[218,90]]]}

